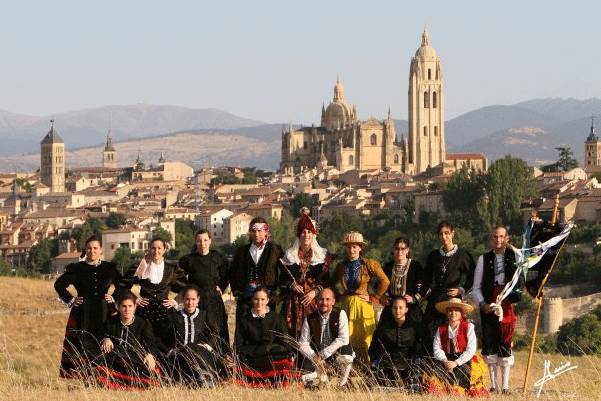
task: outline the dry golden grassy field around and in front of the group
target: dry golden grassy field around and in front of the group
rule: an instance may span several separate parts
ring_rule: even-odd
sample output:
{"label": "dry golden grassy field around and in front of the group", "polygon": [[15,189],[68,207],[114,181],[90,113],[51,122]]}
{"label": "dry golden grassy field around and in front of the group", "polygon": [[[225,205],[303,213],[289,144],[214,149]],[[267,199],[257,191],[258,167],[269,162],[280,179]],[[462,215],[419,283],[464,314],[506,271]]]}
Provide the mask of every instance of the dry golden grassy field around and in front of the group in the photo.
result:
{"label": "dry golden grassy field around and in front of the group", "polygon": [[[67,309],[56,299],[52,282],[0,277],[0,400],[182,400],[209,399],[249,400],[258,396],[270,400],[389,400],[391,394],[375,389],[342,393],[335,388],[319,391],[302,389],[251,390],[225,385],[211,390],[189,390],[167,387],[145,392],[120,393],[97,388],[84,388],[81,383],[58,378],[58,363],[62,346]],[[526,366],[525,353],[516,355],[511,383],[511,399],[531,399],[535,394],[522,395],[521,387]],[[601,358],[564,357],[536,354],[530,379],[530,389],[543,375],[544,360],[553,366],[571,362],[578,368],[558,376],[545,385],[541,399],[601,399]],[[430,399],[431,396],[394,394],[394,399]],[[450,399],[450,397],[434,397]],[[494,396],[493,399],[507,399]]]}

